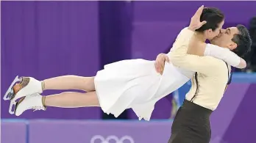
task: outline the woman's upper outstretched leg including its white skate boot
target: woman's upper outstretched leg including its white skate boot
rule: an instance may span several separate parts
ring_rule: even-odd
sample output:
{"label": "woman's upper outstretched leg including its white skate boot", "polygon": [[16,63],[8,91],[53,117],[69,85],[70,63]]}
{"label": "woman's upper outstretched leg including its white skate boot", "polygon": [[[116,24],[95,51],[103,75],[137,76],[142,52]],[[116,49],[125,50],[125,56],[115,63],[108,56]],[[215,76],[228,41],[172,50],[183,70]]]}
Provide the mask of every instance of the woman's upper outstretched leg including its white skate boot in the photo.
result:
{"label": "woman's upper outstretched leg including its white skate boot", "polygon": [[13,87],[15,95],[13,100],[26,95],[42,93],[47,89],[78,89],[86,92],[95,91],[94,77],[58,76],[38,81],[32,77],[23,77],[22,81]]}

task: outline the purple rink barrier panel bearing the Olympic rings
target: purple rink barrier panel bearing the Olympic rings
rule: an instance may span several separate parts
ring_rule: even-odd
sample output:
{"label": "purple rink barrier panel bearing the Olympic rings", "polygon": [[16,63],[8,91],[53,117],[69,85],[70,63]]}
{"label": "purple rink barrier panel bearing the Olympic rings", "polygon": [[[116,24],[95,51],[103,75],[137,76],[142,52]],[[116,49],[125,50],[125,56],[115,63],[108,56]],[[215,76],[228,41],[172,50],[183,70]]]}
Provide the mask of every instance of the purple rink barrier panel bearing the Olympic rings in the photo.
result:
{"label": "purple rink barrier panel bearing the Olympic rings", "polygon": [[171,122],[32,120],[29,143],[165,143],[170,132]]}

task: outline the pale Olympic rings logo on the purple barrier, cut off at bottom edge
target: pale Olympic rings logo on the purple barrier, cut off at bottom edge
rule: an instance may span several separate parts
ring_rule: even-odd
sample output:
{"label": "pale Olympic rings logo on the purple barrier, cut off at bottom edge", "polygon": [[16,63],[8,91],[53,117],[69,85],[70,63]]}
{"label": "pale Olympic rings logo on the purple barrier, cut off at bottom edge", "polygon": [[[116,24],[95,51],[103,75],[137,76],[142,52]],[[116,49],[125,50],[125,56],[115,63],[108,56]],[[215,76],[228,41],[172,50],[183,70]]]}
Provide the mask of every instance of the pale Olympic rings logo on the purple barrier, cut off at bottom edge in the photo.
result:
{"label": "pale Olympic rings logo on the purple barrier, cut off at bottom edge", "polygon": [[101,135],[93,136],[90,139],[90,143],[135,143],[131,136],[122,136],[120,139],[118,139],[118,136],[107,136],[107,138],[104,138]]}

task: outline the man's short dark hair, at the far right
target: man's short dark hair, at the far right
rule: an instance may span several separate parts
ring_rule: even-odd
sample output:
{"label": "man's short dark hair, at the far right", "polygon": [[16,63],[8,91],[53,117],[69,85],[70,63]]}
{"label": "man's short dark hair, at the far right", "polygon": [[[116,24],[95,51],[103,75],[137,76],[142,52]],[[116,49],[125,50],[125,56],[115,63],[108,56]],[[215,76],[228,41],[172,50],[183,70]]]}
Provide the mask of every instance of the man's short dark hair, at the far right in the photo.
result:
{"label": "man's short dark hair, at the far right", "polygon": [[237,44],[237,47],[232,50],[235,54],[240,57],[243,57],[251,49],[252,40],[249,34],[249,31],[245,26],[238,24],[239,34],[235,34],[232,38],[232,41]]}

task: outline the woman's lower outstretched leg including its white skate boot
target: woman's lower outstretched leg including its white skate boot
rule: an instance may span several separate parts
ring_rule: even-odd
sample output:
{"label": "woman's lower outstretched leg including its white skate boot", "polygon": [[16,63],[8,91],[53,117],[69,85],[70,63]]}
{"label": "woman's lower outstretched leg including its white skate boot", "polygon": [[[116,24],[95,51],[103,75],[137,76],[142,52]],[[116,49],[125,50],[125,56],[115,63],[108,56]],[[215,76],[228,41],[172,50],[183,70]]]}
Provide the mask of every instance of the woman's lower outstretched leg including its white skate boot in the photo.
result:
{"label": "woman's lower outstretched leg including its white skate boot", "polygon": [[60,108],[99,106],[99,99],[96,92],[63,92],[48,96],[33,94],[21,98],[18,101],[15,108],[15,115],[20,116],[28,109],[46,110],[46,106]]}

